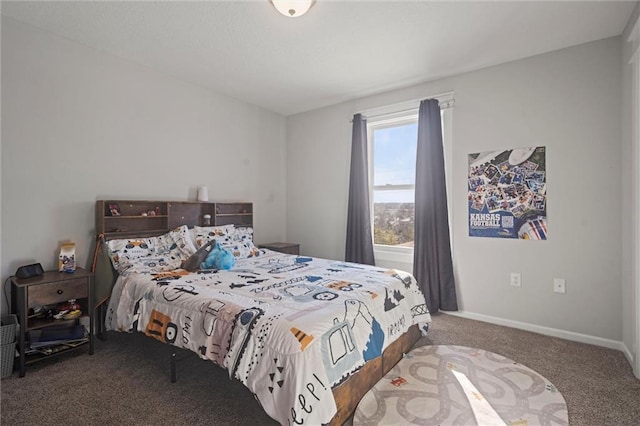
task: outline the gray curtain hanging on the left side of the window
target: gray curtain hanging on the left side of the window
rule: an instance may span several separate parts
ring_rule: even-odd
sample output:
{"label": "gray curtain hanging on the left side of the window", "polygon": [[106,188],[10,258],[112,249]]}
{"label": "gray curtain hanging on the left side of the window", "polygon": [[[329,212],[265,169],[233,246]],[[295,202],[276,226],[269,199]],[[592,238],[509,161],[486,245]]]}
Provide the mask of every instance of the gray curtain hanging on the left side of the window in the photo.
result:
{"label": "gray curtain hanging on the left side of the window", "polygon": [[351,140],[351,177],[347,211],[347,262],[374,265],[371,213],[369,204],[369,159],[367,156],[367,120],[353,116]]}

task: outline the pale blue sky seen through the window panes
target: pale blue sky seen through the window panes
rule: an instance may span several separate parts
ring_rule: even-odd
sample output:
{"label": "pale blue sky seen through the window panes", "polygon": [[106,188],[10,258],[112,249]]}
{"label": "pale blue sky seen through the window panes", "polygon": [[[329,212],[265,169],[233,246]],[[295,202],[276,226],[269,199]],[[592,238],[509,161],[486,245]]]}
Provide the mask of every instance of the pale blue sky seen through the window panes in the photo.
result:
{"label": "pale blue sky seen through the window panes", "polygon": [[[414,185],[418,123],[373,131],[373,184]],[[374,203],[413,203],[413,190],[376,190]]]}

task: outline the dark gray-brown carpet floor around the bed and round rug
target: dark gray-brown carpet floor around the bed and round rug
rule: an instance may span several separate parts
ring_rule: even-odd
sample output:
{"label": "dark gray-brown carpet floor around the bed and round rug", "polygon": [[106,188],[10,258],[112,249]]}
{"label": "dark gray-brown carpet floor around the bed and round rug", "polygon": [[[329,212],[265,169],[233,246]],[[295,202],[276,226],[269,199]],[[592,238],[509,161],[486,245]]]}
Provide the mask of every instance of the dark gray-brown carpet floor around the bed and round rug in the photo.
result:
{"label": "dark gray-brown carpet floor around the bed and round rug", "polygon": [[[418,345],[476,347],[537,371],[562,392],[571,425],[640,425],[640,381],[615,350],[526,331],[433,316]],[[171,348],[141,334],[109,333],[93,356],[33,364],[1,382],[4,425],[275,424],[240,383],[194,354],[179,352],[170,383]]]}

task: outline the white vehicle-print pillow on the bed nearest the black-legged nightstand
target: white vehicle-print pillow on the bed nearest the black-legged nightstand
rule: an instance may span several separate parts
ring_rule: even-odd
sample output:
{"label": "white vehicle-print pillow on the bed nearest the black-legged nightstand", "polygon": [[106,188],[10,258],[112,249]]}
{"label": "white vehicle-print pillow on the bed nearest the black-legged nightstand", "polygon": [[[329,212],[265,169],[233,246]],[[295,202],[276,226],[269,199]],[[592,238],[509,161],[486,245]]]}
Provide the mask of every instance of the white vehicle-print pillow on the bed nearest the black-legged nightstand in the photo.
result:
{"label": "white vehicle-print pillow on the bed nearest the black-legged nightstand", "polygon": [[196,251],[186,226],[158,237],[107,241],[107,247],[119,274],[173,271]]}

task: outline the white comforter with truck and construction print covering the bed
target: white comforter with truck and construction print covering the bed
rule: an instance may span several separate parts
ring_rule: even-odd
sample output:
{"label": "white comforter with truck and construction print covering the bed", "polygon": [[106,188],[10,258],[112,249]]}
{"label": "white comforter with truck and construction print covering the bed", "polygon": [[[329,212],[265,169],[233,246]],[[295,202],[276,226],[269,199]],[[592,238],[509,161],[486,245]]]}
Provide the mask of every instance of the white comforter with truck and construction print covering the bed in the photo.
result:
{"label": "white comforter with truck and construction print covering the bed", "polygon": [[106,320],[226,368],[281,424],[320,424],[333,386],[431,318],[410,274],[260,250],[229,271],[121,275]]}

